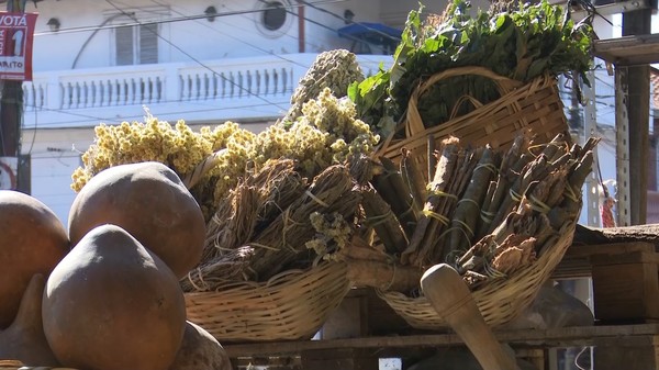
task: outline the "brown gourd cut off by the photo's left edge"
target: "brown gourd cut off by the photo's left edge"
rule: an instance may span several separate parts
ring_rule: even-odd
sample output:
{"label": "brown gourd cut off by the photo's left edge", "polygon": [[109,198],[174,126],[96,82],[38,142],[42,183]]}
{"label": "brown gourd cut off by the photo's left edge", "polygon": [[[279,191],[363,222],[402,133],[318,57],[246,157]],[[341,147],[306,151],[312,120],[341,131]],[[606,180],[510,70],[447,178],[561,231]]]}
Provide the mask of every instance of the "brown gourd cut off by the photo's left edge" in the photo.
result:
{"label": "brown gourd cut off by the photo's left edge", "polygon": [[35,273],[48,276],[68,253],[63,223],[37,199],[0,190],[0,329],[13,321]]}

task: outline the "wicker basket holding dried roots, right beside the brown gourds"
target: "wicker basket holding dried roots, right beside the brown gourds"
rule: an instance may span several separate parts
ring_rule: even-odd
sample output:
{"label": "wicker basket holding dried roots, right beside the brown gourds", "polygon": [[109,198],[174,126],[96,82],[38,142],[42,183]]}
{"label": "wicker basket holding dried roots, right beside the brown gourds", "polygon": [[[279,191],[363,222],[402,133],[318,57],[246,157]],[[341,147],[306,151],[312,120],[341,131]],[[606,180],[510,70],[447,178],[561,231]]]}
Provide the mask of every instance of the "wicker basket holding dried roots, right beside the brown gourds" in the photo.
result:
{"label": "wicker basket holding dried roots, right beside the brown gourds", "polygon": [[347,267],[326,262],[268,282],[186,293],[188,319],[221,343],[310,339],[350,289]]}

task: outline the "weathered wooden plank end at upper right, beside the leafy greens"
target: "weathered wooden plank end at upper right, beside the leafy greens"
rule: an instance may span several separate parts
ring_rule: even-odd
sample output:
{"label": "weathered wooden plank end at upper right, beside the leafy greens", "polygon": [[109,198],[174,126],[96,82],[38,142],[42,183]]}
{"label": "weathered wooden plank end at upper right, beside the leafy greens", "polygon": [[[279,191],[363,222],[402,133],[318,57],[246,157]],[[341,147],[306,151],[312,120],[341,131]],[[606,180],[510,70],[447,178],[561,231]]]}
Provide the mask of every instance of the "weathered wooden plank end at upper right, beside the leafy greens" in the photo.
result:
{"label": "weathered wooden plank end at upper right, beside the leafy greens", "polygon": [[618,66],[659,63],[659,34],[596,40],[593,54]]}

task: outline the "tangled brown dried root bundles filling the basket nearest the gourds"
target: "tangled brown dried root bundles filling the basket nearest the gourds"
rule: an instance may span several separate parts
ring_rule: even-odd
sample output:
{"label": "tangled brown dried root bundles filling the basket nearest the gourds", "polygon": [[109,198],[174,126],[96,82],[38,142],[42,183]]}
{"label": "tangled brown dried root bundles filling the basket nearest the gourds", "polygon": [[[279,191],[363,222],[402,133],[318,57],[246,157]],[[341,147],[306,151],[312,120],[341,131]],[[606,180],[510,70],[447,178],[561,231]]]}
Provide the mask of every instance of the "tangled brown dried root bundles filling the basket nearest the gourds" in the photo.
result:
{"label": "tangled brown dried root bundles filling the basket nearest the gourds", "polygon": [[231,191],[209,223],[202,262],[181,281],[183,289],[265,281],[345,246],[361,201],[350,167],[330,166],[310,180],[295,166],[271,160]]}

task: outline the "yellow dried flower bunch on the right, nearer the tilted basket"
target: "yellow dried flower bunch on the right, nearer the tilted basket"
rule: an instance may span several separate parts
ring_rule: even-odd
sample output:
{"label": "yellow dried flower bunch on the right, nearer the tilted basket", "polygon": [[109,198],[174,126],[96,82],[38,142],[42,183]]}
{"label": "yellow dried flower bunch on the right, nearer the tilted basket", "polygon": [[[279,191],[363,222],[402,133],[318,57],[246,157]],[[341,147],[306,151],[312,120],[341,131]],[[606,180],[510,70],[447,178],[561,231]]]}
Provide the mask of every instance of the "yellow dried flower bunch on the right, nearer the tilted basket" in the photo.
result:
{"label": "yellow dried flower bunch on the right, nearer the tilted basket", "polygon": [[[209,172],[214,177],[213,204],[234,189],[248,169],[257,170],[270,159],[293,159],[302,176],[312,178],[333,164],[353,155],[370,155],[379,136],[357,120],[355,104],[337,99],[330,88],[302,109],[303,115],[290,126],[275,124],[257,135],[231,135],[217,165]],[[205,194],[200,198],[206,198]]]}

